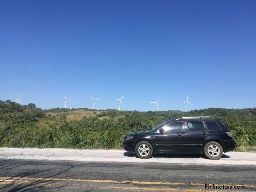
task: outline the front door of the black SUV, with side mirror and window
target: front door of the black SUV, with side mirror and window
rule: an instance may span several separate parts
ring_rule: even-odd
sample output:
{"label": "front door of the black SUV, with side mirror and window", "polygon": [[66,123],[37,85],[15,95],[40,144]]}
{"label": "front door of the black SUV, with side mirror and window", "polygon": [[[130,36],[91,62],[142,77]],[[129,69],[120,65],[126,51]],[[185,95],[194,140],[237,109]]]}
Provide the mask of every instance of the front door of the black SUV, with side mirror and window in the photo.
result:
{"label": "front door of the black SUV, with side mirror and window", "polygon": [[[160,129],[163,132],[160,132]],[[184,122],[171,122],[157,130],[153,139],[157,151],[180,151],[183,150]]]}

